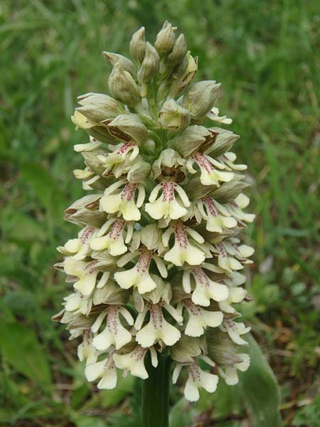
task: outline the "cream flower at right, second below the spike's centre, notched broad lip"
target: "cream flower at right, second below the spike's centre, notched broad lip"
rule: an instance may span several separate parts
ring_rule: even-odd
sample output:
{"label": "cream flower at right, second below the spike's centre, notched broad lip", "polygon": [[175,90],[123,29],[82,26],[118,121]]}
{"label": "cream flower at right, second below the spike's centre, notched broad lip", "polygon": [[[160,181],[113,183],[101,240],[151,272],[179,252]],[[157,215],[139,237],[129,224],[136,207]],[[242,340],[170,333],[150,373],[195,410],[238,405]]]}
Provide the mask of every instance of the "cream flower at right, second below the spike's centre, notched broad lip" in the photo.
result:
{"label": "cream flower at right, second below the spike's centre, notched broad lip", "polygon": [[183,271],[182,284],[186,293],[191,293],[191,276],[196,283],[191,295],[194,304],[208,307],[210,300],[220,302],[228,299],[228,286],[211,280],[200,267]]}

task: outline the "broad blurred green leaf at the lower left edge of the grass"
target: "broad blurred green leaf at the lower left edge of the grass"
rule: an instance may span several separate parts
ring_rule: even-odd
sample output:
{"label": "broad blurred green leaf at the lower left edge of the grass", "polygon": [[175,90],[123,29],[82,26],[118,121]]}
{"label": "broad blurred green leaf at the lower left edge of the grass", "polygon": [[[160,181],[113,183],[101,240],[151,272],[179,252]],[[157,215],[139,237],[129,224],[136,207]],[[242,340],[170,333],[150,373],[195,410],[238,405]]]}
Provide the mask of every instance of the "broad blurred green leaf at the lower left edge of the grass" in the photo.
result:
{"label": "broad blurred green leaf at the lower left edge of the grass", "polygon": [[0,330],[0,348],[7,362],[16,371],[45,389],[51,375],[45,353],[30,327],[20,323],[4,323]]}

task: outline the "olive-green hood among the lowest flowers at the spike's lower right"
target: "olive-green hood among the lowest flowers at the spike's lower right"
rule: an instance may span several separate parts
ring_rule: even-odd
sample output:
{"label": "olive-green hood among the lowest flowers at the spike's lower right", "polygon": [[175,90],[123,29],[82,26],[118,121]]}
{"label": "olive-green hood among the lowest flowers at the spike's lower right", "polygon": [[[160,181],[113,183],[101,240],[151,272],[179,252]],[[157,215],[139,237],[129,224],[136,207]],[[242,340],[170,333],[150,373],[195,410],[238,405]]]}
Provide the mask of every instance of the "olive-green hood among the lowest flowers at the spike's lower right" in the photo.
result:
{"label": "olive-green hood among the lowest flowers at the spike's lower right", "polygon": [[218,328],[208,328],[206,331],[206,342],[208,346],[208,357],[219,367],[225,368],[242,362],[237,354],[237,346],[229,338],[228,334],[221,332]]}

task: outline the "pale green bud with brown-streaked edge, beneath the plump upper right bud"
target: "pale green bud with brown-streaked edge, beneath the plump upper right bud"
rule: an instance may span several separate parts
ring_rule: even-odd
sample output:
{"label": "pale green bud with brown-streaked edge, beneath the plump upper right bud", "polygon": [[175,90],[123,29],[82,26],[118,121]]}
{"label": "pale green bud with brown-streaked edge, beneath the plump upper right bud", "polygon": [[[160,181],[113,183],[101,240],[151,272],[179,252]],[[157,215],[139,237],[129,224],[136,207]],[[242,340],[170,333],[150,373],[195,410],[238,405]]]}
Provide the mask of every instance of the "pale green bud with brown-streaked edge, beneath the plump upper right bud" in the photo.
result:
{"label": "pale green bud with brown-streaked edge, beneath the plump upper right bud", "polygon": [[182,157],[194,152],[204,152],[215,139],[215,132],[204,126],[188,126],[181,135],[172,140],[171,145]]}

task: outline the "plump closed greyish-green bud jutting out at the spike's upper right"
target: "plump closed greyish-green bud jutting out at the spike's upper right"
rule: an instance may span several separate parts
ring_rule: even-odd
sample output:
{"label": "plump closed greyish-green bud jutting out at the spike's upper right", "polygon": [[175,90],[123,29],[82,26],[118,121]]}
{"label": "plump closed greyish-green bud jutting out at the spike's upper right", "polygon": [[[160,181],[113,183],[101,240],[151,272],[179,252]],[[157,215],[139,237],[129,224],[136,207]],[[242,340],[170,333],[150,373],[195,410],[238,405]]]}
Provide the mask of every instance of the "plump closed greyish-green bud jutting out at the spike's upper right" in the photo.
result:
{"label": "plump closed greyish-green bud jutting out at the spike's upper right", "polygon": [[193,83],[182,98],[182,106],[191,112],[193,119],[204,117],[211,110],[218,97],[220,83],[215,80],[203,80]]}

